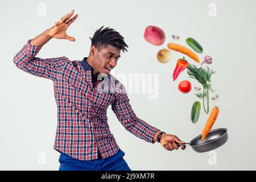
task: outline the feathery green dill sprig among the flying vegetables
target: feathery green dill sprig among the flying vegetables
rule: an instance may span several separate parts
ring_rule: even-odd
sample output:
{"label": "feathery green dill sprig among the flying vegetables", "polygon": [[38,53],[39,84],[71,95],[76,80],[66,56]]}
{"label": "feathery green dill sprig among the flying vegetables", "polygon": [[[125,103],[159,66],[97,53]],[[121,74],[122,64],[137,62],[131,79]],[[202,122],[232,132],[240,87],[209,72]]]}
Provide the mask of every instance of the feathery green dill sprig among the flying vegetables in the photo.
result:
{"label": "feathery green dill sprig among the flying vegetables", "polygon": [[[207,67],[207,66],[206,66]],[[195,94],[197,97],[203,99],[203,105],[204,105],[204,101],[207,102],[207,109],[205,109],[205,105],[204,105],[204,111],[205,113],[209,113],[209,91],[214,92],[213,89],[211,89],[210,87],[212,86],[212,83],[210,82],[210,77],[212,77],[213,73],[216,73],[215,71],[213,71],[212,69],[209,69],[207,67],[203,68],[197,68],[195,65],[192,64],[188,64],[187,67],[187,73],[188,76],[191,78],[196,79],[198,82],[200,82],[200,84],[203,85],[203,93],[197,93]]]}

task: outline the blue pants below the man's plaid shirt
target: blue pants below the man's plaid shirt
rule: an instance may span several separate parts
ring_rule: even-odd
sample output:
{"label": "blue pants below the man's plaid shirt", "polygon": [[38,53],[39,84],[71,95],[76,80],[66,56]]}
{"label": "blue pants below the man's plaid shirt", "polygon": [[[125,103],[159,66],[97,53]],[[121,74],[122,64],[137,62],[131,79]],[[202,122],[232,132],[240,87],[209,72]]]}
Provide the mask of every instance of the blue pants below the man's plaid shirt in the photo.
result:
{"label": "blue pants below the man's plaid shirt", "polygon": [[131,171],[123,159],[124,155],[125,152],[119,150],[113,156],[102,159],[99,152],[99,159],[79,160],[61,153],[59,171]]}

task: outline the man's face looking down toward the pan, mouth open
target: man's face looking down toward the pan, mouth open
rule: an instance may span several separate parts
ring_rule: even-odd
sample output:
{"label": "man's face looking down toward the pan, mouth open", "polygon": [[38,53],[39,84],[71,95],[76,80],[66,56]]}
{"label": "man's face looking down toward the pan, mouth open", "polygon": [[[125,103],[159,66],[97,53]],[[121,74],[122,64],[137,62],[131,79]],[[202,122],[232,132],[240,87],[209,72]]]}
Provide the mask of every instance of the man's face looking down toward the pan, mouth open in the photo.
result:
{"label": "man's face looking down toward the pan, mouth open", "polygon": [[110,73],[110,71],[117,65],[121,49],[108,45],[106,48],[94,49],[94,71],[96,74]]}

